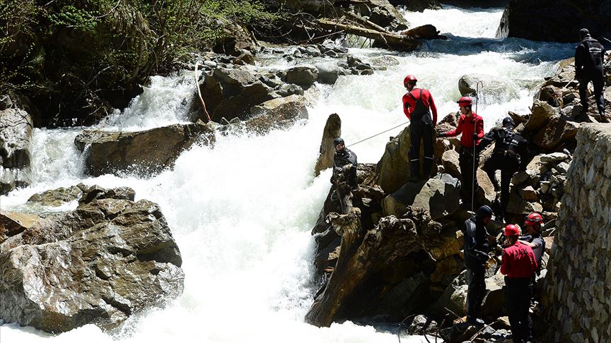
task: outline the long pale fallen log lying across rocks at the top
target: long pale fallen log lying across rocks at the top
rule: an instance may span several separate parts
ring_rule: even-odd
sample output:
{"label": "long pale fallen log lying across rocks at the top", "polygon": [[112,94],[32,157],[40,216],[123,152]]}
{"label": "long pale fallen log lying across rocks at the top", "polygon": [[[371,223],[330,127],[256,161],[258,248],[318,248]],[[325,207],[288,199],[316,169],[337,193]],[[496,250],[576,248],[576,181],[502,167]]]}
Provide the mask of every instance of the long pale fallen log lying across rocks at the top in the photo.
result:
{"label": "long pale fallen log lying across rocks at the top", "polygon": [[318,25],[327,30],[343,30],[344,32],[351,33],[360,37],[370,38],[372,40],[380,40],[388,44],[389,47],[414,50],[420,47],[422,44],[420,40],[407,35],[397,35],[386,31],[372,30],[368,28],[361,28],[356,25],[349,25],[338,23],[337,21],[318,19]]}

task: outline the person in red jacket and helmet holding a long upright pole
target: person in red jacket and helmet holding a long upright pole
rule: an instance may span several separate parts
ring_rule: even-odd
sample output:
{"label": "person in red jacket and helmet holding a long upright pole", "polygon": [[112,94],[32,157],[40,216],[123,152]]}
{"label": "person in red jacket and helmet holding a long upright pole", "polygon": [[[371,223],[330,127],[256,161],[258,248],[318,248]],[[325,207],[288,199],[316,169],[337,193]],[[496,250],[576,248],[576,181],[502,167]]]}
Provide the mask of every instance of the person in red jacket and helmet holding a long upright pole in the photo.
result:
{"label": "person in red jacket and helmet holding a long upright pole", "polygon": [[477,178],[474,177],[473,162],[475,159],[475,166],[477,167],[479,156],[477,153],[474,156],[473,147],[484,137],[484,119],[472,111],[472,104],[473,101],[470,97],[461,97],[458,100],[458,106],[460,107],[458,126],[453,131],[438,135],[439,137],[454,137],[462,133],[462,136],[460,136],[460,157],[458,158],[458,164],[460,167],[460,183],[462,185],[460,195],[463,205],[471,205],[473,189],[477,189]]}

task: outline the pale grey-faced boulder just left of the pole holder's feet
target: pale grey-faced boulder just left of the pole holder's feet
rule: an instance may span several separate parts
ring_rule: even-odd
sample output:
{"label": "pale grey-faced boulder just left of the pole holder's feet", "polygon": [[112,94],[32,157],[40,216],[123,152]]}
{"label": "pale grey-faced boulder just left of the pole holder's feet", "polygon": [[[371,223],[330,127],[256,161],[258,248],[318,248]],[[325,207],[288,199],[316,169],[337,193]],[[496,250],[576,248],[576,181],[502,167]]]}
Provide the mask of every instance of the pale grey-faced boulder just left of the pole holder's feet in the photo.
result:
{"label": "pale grey-faced boulder just left of the pole holder's feet", "polygon": [[432,219],[451,215],[458,210],[459,181],[450,174],[438,174],[428,181],[405,183],[383,201],[385,215],[402,215],[407,206],[431,213]]}

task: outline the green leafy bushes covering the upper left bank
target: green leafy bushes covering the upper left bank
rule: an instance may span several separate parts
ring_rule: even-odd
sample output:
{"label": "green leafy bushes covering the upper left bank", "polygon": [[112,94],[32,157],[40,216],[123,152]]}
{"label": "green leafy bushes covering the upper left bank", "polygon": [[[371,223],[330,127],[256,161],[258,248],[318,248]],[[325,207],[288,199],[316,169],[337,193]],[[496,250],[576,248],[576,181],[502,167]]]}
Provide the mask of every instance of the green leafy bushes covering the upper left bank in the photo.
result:
{"label": "green leafy bushes covering the upper left bank", "polygon": [[256,0],[0,0],[0,93],[130,88],[213,46],[231,25],[279,18]]}

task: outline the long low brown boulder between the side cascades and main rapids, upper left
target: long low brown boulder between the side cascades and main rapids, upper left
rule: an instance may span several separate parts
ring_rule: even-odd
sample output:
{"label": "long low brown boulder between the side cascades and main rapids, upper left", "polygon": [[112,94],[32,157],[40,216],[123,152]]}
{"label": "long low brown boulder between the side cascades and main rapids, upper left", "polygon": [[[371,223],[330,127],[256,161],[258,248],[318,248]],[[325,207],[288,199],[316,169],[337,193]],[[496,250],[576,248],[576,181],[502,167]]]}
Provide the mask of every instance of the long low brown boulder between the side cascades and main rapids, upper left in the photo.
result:
{"label": "long low brown boulder between the side cascades and main rapids, upper left", "polygon": [[137,132],[86,130],[74,139],[76,148],[86,154],[86,167],[92,176],[161,172],[172,167],[180,152],[195,142],[214,144],[211,126],[199,122]]}

